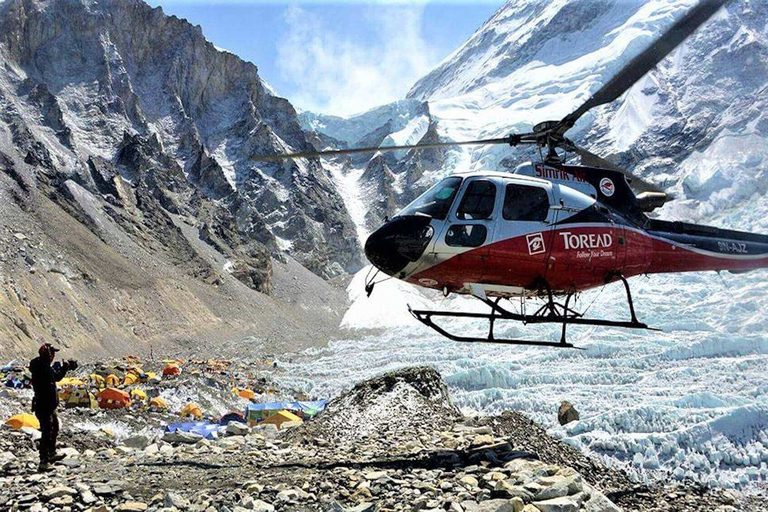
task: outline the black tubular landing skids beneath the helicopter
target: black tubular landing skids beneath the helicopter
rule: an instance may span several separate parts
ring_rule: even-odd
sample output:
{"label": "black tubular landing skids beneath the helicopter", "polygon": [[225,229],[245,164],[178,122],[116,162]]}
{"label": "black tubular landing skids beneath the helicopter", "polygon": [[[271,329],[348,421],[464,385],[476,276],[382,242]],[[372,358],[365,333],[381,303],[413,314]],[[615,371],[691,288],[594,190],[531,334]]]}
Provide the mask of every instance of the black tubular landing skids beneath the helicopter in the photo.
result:
{"label": "black tubular landing skids beneath the helicopter", "polygon": [[[632,303],[632,295],[629,291],[629,284],[627,283],[627,280],[623,276],[617,276],[617,277],[621,279],[621,281],[624,283],[624,286],[627,291],[627,303],[628,303],[629,311],[631,314],[630,321],[584,318],[583,314],[578,313],[568,307],[568,303],[570,302],[571,297],[573,296],[572,293],[566,296],[565,304],[561,304],[554,300],[553,295],[549,290],[547,290],[548,292],[547,303],[545,303],[532,315],[525,314],[525,313],[515,313],[502,308],[501,306],[499,306],[501,297],[498,297],[495,300],[476,297],[478,300],[481,300],[491,308],[490,313],[415,310],[415,309],[411,309],[410,306],[408,306],[408,311],[411,313],[411,315],[413,315],[413,317],[416,320],[423,323],[427,327],[430,327],[431,329],[435,330],[439,334],[442,334],[446,338],[453,341],[459,341],[459,342],[465,342],[465,343],[479,342],[479,343],[500,343],[500,344],[506,344],[506,345],[532,345],[532,346],[540,346],[540,347],[579,348],[579,347],[575,347],[574,345],[566,341],[566,329],[569,324],[597,325],[597,326],[604,326],[604,327],[622,327],[625,329],[647,329],[649,331],[658,331],[659,329],[648,327],[646,324],[637,320],[637,317],[635,316],[634,304]],[[485,338],[476,338],[471,336],[459,336],[457,334],[450,333],[440,325],[436,324],[433,321],[434,317],[478,318],[478,319],[488,320],[489,322],[488,336]],[[495,323],[497,320],[513,320],[516,322],[522,322],[524,325],[525,324],[545,324],[545,323],[562,324],[563,330],[562,330],[562,335],[560,337],[559,342],[496,338],[494,336],[493,331],[494,331]],[[583,350],[583,349],[580,349],[580,350]]]}

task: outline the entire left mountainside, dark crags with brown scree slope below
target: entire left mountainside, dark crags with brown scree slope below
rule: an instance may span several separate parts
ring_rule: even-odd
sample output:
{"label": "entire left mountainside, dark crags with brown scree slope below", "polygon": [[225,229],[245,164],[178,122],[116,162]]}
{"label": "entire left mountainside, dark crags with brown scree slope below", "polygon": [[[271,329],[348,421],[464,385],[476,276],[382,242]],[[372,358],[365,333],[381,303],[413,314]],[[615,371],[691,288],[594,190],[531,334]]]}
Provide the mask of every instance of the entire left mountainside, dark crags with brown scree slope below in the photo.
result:
{"label": "entire left mountainside, dark crags with brown scree slope below", "polygon": [[[185,336],[172,327],[184,318],[216,338],[220,322],[259,335],[258,317],[278,321],[296,304],[278,284],[286,273],[328,297],[308,315],[315,332],[335,328],[343,299],[295,261],[326,278],[356,270],[354,225],[318,161],[249,160],[310,147],[253,64],[139,0],[2,2],[0,64],[0,332],[21,345],[49,336],[85,347]],[[141,290],[143,312],[129,319],[118,303]]]}

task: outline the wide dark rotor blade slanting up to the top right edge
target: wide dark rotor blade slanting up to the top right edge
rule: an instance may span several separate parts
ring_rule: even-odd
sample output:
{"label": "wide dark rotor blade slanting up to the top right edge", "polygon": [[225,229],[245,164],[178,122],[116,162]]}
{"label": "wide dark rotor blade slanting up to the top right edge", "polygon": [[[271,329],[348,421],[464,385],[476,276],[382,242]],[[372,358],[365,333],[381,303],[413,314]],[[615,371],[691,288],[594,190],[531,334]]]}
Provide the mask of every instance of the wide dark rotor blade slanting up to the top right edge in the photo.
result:
{"label": "wide dark rotor blade slanting up to the top right edge", "polygon": [[618,99],[728,1],[730,0],[701,0],[668,28],[653,44],[646,48],[645,51],[629,61],[621,71],[614,75],[608,83],[595,92],[583,105],[565,116],[558,124],[555,132],[563,135],[590,109]]}

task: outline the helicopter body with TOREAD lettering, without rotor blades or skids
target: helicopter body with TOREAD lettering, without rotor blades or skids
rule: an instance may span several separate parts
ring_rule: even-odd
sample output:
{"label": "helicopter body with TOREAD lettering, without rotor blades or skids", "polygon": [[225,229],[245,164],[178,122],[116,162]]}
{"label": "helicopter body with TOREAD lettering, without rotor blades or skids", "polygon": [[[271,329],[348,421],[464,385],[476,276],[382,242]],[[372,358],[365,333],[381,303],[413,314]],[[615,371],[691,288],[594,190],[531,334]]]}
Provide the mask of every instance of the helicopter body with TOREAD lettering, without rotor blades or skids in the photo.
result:
{"label": "helicopter body with TOREAD lettering, without rotor blades or skids", "polygon": [[633,201],[623,177],[606,170],[564,166],[555,175],[535,165],[451,177],[373,233],[366,254],[410,283],[488,296],[768,267],[768,236],[649,219],[624,207]]}

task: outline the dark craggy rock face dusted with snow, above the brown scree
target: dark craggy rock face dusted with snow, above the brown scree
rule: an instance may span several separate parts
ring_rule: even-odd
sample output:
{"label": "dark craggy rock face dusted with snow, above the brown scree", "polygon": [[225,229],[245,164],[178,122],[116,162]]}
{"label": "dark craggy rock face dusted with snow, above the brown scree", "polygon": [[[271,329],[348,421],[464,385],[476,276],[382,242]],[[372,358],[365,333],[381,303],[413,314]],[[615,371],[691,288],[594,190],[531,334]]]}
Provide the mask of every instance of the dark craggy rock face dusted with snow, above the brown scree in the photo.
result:
{"label": "dark craggy rock face dusted with snow, above the brown scree", "polygon": [[250,161],[311,148],[295,110],[199,27],[139,0],[9,0],[0,63],[0,131],[57,202],[71,179],[158,247],[174,245],[160,229],[169,215],[194,219],[263,291],[282,251],[322,276],[359,268],[355,228],[318,161]]}

